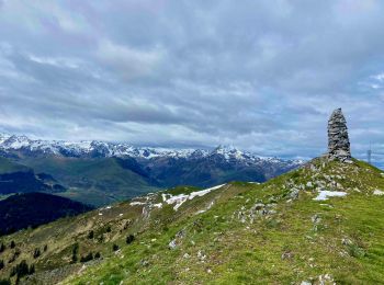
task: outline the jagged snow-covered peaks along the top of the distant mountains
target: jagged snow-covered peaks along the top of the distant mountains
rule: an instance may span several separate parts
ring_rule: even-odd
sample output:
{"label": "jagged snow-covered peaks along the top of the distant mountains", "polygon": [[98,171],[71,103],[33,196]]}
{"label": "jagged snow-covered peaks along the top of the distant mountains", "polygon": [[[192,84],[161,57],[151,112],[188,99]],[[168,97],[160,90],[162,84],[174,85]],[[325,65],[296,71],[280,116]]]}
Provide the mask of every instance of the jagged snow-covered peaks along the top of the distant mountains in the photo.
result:
{"label": "jagged snow-covered peaks along the top of the distant mountains", "polygon": [[[261,158],[251,152],[240,151],[235,147],[218,146],[213,150],[171,149],[134,147],[129,144],[105,142],[98,140],[64,141],[30,139],[26,136],[0,134],[0,150],[19,151],[23,155],[56,155],[64,157],[132,157],[135,159],[174,158],[174,159],[214,159],[229,162],[256,163],[261,161],[282,162],[278,158]],[[287,163],[301,164],[302,161],[290,160]]]}

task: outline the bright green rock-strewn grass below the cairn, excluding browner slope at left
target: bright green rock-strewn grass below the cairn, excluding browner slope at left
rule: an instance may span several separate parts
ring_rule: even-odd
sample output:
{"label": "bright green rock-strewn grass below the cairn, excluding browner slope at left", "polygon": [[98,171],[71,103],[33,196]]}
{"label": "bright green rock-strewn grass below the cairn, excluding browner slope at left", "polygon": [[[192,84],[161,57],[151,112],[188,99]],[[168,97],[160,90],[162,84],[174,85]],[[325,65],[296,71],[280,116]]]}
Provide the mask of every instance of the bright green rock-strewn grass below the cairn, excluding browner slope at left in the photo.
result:
{"label": "bright green rock-strewn grass below the cairn, excluding browner slope at left", "polygon": [[[372,192],[384,189],[384,178],[362,162],[316,163],[315,171],[303,169],[262,185],[233,185],[237,194],[228,202],[176,220],[167,231],[145,232],[138,242],[124,248],[124,258],[90,266],[67,283],[270,284],[318,281],[325,274],[339,283],[381,283],[384,197]],[[328,183],[324,174],[340,175],[330,179],[339,185]],[[314,190],[305,186],[297,201],[286,203],[289,185],[308,181],[324,181],[327,189],[345,190],[348,196],[317,202]],[[257,202],[278,202],[276,214],[250,223],[249,209]],[[321,218],[318,224],[312,221],[315,215]],[[170,250],[167,244],[180,230],[184,237]]]}

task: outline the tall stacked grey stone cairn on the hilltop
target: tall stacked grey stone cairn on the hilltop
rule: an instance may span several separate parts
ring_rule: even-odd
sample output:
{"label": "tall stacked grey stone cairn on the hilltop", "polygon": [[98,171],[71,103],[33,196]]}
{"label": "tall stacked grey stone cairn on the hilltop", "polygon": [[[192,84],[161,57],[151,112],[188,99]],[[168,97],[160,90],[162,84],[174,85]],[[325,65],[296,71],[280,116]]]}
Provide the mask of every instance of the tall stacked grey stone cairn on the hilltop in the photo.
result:
{"label": "tall stacked grey stone cairn on the hilltop", "polygon": [[328,159],[351,162],[351,149],[348,138],[347,121],[337,109],[328,121]]}

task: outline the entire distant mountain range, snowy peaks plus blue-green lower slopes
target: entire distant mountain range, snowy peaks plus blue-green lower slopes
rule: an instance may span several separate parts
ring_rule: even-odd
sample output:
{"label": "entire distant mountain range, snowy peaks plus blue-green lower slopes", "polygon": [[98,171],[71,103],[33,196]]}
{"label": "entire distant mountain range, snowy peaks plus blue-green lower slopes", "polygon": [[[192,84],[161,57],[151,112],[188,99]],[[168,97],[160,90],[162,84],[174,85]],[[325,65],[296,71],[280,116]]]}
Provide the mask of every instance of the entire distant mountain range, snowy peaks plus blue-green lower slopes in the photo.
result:
{"label": "entire distant mountain range, snowy peaks plus blue-green lower slopes", "polygon": [[95,206],[176,185],[264,182],[303,163],[223,146],[212,150],[170,149],[5,134],[0,135],[0,156],[50,175],[66,189],[60,195]]}

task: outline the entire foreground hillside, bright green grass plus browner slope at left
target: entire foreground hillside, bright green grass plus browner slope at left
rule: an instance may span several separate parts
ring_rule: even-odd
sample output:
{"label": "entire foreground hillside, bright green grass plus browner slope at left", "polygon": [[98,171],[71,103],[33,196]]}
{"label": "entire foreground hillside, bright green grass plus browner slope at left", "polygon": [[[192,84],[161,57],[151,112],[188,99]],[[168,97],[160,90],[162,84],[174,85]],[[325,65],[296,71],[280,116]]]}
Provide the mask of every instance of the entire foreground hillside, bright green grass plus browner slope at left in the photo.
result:
{"label": "entire foreground hillside, bright green grass plus browner slope at left", "polygon": [[380,284],[383,191],[380,170],[325,159],[263,184],[179,187],[4,237],[21,253],[1,274],[25,260],[27,284]]}

